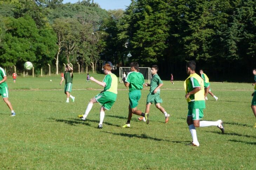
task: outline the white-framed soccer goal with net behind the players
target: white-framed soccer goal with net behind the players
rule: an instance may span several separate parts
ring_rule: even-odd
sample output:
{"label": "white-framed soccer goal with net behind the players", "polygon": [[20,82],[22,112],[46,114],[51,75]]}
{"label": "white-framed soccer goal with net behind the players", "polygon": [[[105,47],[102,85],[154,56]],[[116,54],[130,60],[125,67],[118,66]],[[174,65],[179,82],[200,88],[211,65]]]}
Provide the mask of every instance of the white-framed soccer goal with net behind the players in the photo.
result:
{"label": "white-framed soccer goal with net behind the players", "polygon": [[[152,75],[151,75],[151,68],[150,67],[139,67],[140,73],[144,76],[144,80],[146,83],[150,83]],[[120,67],[119,68],[119,81],[120,83],[123,82],[123,72],[127,74],[130,72],[130,67]]]}

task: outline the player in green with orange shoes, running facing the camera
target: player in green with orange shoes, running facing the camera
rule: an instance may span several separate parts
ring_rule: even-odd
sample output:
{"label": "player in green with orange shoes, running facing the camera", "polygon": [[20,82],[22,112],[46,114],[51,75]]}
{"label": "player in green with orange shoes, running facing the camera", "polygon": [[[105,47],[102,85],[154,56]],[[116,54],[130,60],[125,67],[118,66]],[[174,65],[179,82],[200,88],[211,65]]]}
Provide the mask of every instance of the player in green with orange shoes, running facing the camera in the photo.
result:
{"label": "player in green with orange shoes, running facing the camera", "polygon": [[[151,82],[150,84],[145,83],[145,86],[147,87],[150,86],[149,94],[147,97],[145,114],[149,113],[150,105],[154,103],[156,105],[156,108],[159,109],[164,114],[165,123],[167,123],[169,121],[170,114],[168,114],[164,110],[164,108],[160,105],[160,103],[163,102],[163,100],[160,98],[160,88],[163,86],[163,82],[160,79],[159,75],[157,74],[157,71],[158,71],[158,66],[153,65],[151,67],[151,74],[153,75]],[[138,119],[140,121],[146,121],[144,117],[138,117]]]}

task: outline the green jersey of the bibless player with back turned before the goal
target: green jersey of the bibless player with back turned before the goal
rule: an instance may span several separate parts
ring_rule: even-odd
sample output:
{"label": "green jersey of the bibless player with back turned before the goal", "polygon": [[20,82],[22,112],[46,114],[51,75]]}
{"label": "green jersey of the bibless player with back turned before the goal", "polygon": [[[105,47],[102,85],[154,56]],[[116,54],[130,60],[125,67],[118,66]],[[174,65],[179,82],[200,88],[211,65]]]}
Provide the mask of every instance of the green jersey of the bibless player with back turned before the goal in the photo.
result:
{"label": "green jersey of the bibless player with back turned before the goal", "polygon": [[125,81],[129,84],[129,91],[143,89],[144,76],[140,72],[129,72]]}

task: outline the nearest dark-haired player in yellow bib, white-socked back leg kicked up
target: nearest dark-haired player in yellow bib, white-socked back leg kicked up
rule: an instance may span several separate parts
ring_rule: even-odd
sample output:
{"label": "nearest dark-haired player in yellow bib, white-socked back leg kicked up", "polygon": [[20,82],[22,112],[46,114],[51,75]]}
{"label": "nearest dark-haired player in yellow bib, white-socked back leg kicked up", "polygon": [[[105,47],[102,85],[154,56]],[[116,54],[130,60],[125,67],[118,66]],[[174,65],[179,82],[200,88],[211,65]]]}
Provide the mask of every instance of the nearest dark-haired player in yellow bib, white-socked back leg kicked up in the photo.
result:
{"label": "nearest dark-haired player in yellow bib, white-socked back leg kicked up", "polygon": [[186,65],[188,78],[184,82],[186,90],[186,99],[188,102],[188,117],[187,124],[193,141],[189,143],[190,146],[199,146],[196,136],[195,127],[217,126],[220,128],[222,134],[224,133],[224,126],[222,120],[217,121],[200,121],[203,118],[203,109],[206,108],[204,100],[204,82],[203,79],[195,73],[195,61],[188,61]]}

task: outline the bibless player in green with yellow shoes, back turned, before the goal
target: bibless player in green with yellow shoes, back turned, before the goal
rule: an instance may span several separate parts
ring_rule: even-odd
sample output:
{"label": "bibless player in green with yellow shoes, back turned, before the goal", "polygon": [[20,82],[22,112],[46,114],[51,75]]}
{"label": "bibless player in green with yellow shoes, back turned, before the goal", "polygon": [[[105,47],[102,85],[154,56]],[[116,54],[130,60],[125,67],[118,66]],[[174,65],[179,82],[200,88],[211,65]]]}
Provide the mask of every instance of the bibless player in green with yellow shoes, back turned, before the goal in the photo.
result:
{"label": "bibless player in green with yellow shoes, back turned, before the goal", "polygon": [[144,76],[139,72],[139,64],[137,62],[132,62],[130,64],[130,71],[127,74],[126,79],[123,78],[124,86],[129,87],[129,112],[128,119],[125,125],[122,127],[130,127],[130,120],[133,114],[145,117],[146,123],[149,123],[148,113],[142,113],[137,110],[138,102],[141,97],[141,89],[144,87]]}

